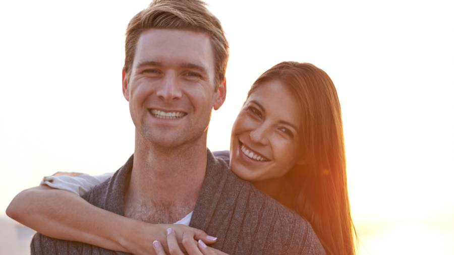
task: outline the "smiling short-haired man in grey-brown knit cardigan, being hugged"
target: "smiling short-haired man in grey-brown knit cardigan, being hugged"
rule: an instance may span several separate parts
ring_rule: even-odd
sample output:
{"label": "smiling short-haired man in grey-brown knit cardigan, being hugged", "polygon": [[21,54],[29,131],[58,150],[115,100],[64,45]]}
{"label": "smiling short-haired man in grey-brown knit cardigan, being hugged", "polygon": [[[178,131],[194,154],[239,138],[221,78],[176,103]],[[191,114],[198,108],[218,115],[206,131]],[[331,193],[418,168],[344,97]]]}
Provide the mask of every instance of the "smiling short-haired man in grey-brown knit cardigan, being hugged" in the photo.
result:
{"label": "smiling short-haired man in grey-brown knit cardigan, being hugged", "polygon": [[[225,100],[228,42],[197,0],[157,0],[128,25],[123,94],[135,125],[134,156],[84,198],[149,223],[176,222],[217,236],[233,254],[324,254],[310,225],[257,192],[207,151],[211,109]],[[151,240],[150,240],[151,241]],[[41,234],[33,254],[112,251]]]}

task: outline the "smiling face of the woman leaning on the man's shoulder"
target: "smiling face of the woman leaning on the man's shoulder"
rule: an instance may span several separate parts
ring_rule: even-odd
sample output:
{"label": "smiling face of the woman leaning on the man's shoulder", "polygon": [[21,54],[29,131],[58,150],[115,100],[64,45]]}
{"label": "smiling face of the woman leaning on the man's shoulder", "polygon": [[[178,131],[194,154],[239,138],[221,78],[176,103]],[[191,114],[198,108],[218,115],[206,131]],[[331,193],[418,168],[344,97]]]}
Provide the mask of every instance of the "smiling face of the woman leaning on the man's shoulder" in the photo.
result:
{"label": "smiling face of the woman leaning on the man's shoulder", "polygon": [[232,171],[249,181],[285,175],[299,159],[301,113],[279,81],[268,81],[249,96],[232,127]]}

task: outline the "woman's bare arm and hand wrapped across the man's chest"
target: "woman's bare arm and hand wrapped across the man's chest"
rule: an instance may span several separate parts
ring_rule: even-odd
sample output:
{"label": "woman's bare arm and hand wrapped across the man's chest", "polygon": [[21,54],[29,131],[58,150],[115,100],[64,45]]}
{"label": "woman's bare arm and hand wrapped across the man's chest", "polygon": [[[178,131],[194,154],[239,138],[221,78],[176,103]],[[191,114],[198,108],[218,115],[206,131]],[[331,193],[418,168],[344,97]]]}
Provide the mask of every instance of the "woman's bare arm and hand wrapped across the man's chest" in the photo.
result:
{"label": "woman's bare arm and hand wrapped across the man's chest", "polygon": [[178,240],[184,233],[213,243],[205,232],[184,225],[148,224],[97,208],[72,192],[45,185],[19,193],[7,215],[49,237],[85,242],[103,248],[154,254],[153,240],[166,243],[165,230],[172,226]]}

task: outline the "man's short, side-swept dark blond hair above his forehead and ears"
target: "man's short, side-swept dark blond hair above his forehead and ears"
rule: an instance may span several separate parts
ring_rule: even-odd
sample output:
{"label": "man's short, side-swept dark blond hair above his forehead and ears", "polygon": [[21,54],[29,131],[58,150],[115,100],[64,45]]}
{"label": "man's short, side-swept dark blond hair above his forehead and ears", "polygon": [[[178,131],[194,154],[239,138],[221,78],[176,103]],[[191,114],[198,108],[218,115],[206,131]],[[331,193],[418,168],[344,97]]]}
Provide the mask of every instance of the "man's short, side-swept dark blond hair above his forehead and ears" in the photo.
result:
{"label": "man's short, side-swept dark blond hair above his forehead and ears", "polygon": [[206,9],[200,0],[155,0],[146,9],[136,14],[128,24],[125,42],[125,72],[130,75],[137,41],[140,34],[149,28],[181,29],[207,33],[214,53],[215,82],[225,80],[229,59],[229,43],[219,20]]}

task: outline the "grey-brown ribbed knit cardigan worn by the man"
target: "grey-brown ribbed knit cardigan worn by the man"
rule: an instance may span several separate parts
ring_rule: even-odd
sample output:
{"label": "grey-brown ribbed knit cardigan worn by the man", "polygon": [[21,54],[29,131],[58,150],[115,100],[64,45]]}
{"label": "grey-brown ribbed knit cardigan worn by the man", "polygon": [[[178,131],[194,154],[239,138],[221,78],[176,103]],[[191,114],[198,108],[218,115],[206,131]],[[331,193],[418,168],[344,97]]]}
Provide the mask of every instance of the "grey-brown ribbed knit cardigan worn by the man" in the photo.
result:
{"label": "grey-brown ribbed knit cardigan worn by the man", "polygon": [[[133,157],[84,196],[124,215],[123,197]],[[229,254],[325,254],[310,224],[233,174],[208,151],[205,180],[190,226],[217,236],[212,247]],[[125,254],[86,243],[35,234],[31,254]]]}

